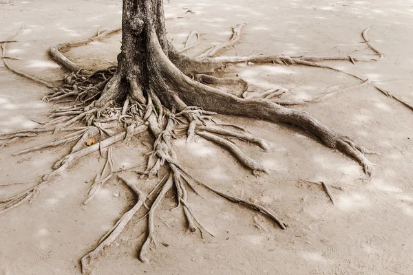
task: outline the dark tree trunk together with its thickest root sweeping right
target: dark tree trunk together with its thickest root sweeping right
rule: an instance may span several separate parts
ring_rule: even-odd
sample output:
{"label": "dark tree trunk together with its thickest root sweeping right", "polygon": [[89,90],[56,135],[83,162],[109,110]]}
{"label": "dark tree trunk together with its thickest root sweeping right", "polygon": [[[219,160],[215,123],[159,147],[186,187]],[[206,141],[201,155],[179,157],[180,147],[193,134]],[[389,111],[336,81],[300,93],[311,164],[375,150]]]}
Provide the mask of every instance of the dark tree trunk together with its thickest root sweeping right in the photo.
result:
{"label": "dark tree trunk together with its thickest root sweeping right", "polygon": [[[364,148],[328,129],[305,111],[288,109],[265,99],[238,98],[190,78],[188,75],[196,72],[188,73],[187,67],[193,68],[194,64],[202,67],[202,60],[190,60],[168,44],[162,0],[124,0],[122,27],[123,45],[118,55],[118,69],[94,107],[135,100],[148,104],[145,121],[152,109],[156,113],[155,110],[162,112],[166,107],[167,112],[173,113],[174,110],[199,107],[226,115],[293,124],[310,131],[326,146],[354,157],[370,174],[371,164],[363,155]],[[158,123],[163,124],[162,113],[158,118]],[[149,120],[153,121],[153,118]],[[193,120],[189,118],[189,122]],[[154,135],[159,133],[159,126],[149,122]]]}

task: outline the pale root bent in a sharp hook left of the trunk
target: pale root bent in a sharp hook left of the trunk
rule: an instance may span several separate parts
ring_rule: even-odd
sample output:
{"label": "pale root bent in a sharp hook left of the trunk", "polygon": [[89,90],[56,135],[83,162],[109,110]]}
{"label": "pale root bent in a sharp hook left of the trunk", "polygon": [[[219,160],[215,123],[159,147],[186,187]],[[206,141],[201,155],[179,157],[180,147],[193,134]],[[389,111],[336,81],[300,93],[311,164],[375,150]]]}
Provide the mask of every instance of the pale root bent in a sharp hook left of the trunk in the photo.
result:
{"label": "pale root bent in a sharp hook left of the trunk", "polygon": [[64,47],[78,47],[81,45],[86,45],[89,42],[92,41],[99,41],[109,34],[113,34],[115,32],[119,32],[122,30],[122,28],[116,28],[116,29],[111,29],[111,30],[106,30],[105,32],[102,32],[101,34],[98,34],[97,36],[94,36],[89,39],[83,39],[81,41],[76,41],[76,42],[70,42],[70,43],[61,43],[58,45],[54,45],[53,47],[50,48],[50,54],[58,61],[59,63],[63,64],[67,69],[70,69],[72,72],[83,72],[85,74],[92,74],[92,72],[87,71],[86,69],[83,69],[81,66],[77,65],[76,63],[70,61],[66,56],[64,56],[60,50],[63,49]]}

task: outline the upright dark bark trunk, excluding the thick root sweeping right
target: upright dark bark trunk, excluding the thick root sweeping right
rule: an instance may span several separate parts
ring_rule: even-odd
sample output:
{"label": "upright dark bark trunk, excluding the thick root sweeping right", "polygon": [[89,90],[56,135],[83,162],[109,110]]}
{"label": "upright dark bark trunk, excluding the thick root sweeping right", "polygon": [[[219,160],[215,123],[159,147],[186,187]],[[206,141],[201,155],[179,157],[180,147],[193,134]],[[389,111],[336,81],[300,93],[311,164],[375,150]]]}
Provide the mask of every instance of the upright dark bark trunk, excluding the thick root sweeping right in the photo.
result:
{"label": "upright dark bark trunk, excluding the thick root sweeping right", "polygon": [[160,45],[168,55],[165,17],[162,0],[123,0],[122,47],[118,55],[118,69],[109,80],[96,107],[114,100],[123,102],[127,96],[146,103],[151,89],[151,47]]}

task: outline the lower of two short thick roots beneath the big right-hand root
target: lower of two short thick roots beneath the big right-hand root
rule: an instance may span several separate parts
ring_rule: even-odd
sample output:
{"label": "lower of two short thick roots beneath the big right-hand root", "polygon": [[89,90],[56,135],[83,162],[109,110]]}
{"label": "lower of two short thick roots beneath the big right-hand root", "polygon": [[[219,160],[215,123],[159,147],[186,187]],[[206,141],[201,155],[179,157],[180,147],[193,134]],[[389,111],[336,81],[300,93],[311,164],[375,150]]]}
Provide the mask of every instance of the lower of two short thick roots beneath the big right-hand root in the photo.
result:
{"label": "lower of two short thick roots beneath the big right-hand root", "polygon": [[227,148],[231,153],[235,155],[235,157],[237,157],[238,160],[240,160],[242,164],[244,164],[244,166],[253,170],[254,175],[257,175],[257,171],[263,171],[264,173],[267,173],[268,175],[270,174],[270,171],[264,165],[260,164],[259,162],[256,162],[251,157],[248,157],[247,155],[242,153],[240,148],[238,148],[232,142],[229,142],[228,140],[225,140],[222,137],[218,137],[217,135],[213,135],[207,132],[196,131],[195,133],[197,135],[200,135],[201,137],[204,137],[204,139],[206,140],[210,140],[212,142],[215,142]]}

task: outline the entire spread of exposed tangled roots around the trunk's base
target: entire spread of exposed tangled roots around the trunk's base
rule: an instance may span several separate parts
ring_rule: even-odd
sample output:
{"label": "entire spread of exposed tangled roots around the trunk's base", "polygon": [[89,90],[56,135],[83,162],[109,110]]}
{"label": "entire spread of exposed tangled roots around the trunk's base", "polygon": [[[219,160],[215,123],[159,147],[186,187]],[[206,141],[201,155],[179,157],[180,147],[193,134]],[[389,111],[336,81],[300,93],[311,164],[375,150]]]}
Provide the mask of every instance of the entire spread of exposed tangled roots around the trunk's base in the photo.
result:
{"label": "entire spread of exposed tangled roots around the trunk's base", "polygon": [[[343,89],[328,91],[321,96],[307,101],[283,101],[279,99],[281,94],[288,92],[286,89],[273,89],[262,92],[249,92],[246,89],[242,92],[242,97],[234,96],[220,89],[215,89],[210,85],[238,85],[246,87],[246,82],[241,78],[216,78],[213,72],[223,69],[227,65],[235,63],[273,63],[275,65],[304,65],[332,69],[342,72],[339,69],[320,65],[321,61],[367,61],[357,58],[348,58],[341,56],[220,56],[213,57],[224,47],[234,45],[240,40],[243,25],[238,25],[233,29],[233,36],[230,41],[222,45],[215,46],[198,56],[197,58],[188,58],[180,54],[169,43],[167,50],[162,47],[156,32],[149,32],[147,39],[147,56],[149,61],[138,69],[140,74],[145,75],[145,81],[139,81],[140,77],[136,76],[134,68],[122,69],[122,64],[118,67],[109,67],[99,69],[96,72],[88,72],[79,67],[73,61],[68,60],[61,54],[63,47],[73,47],[84,45],[92,41],[87,39],[78,43],[65,43],[52,47],[52,54],[62,65],[72,70],[72,74],[65,77],[65,83],[61,86],[45,83],[32,76],[27,76],[15,69],[6,66],[13,72],[22,76],[29,77],[38,81],[47,87],[51,87],[52,92],[45,96],[45,101],[70,102],[76,104],[70,107],[60,107],[50,113],[50,122],[43,126],[32,129],[16,131],[0,135],[1,140],[6,140],[3,146],[10,144],[24,137],[33,137],[44,133],[56,133],[59,131],[70,132],[51,142],[41,144],[24,151],[15,153],[20,155],[32,151],[38,151],[43,148],[52,146],[64,146],[65,144],[74,143],[72,152],[61,159],[54,165],[54,171],[48,173],[39,179],[39,182],[21,192],[21,194],[8,199],[0,200],[1,210],[4,213],[21,205],[25,201],[33,199],[43,186],[56,180],[67,167],[76,163],[78,159],[100,151],[107,152],[107,162],[103,172],[94,181],[90,188],[89,195],[85,199],[85,204],[89,203],[106,181],[114,176],[125,182],[133,192],[136,193],[138,201],[136,205],[126,212],[123,217],[114,225],[114,227],[100,239],[98,246],[89,252],[81,260],[83,274],[89,274],[96,261],[104,250],[112,245],[115,239],[123,231],[131,217],[143,207],[147,207],[147,226],[148,234],[145,243],[140,249],[139,258],[142,262],[149,261],[149,250],[156,244],[154,215],[160,208],[160,203],[169,190],[176,192],[177,207],[182,208],[184,217],[187,220],[188,228],[191,232],[199,230],[201,236],[207,232],[200,221],[195,217],[191,210],[188,200],[188,192],[192,190],[198,194],[198,186],[207,188],[220,197],[224,197],[234,203],[262,212],[268,218],[272,219],[280,228],[285,229],[286,224],[277,218],[276,214],[246,199],[229,195],[228,193],[218,190],[202,183],[193,178],[187,170],[180,164],[176,152],[171,145],[171,141],[177,138],[187,138],[192,140],[195,137],[204,138],[215,144],[218,144],[232,153],[240,163],[254,173],[269,173],[268,169],[248,157],[233,142],[231,138],[251,142],[268,150],[268,144],[242,129],[240,126],[232,124],[222,124],[213,118],[216,113],[225,115],[238,115],[248,118],[264,119],[269,122],[282,122],[308,131],[319,139],[329,148],[335,148],[355,159],[368,175],[372,173],[372,164],[366,159],[365,153],[371,153],[363,146],[352,142],[349,137],[345,137],[328,129],[318,120],[313,118],[305,111],[298,111],[284,107],[285,105],[309,104],[322,100],[327,94],[333,94],[339,91],[350,89],[349,86]],[[93,40],[104,39],[105,36],[116,32],[109,30],[103,32]],[[377,58],[368,61],[378,61],[383,58],[383,54],[377,51],[367,38],[367,31],[363,32],[363,39],[366,45],[377,54]],[[167,52],[167,54],[165,53]],[[6,43],[3,44],[3,56],[6,56]],[[142,71],[142,68],[145,71]],[[363,80],[358,76],[348,74],[361,80],[359,85],[373,85],[368,80]],[[373,85],[374,86],[374,85]],[[374,86],[376,87],[376,86]],[[410,104],[396,98],[388,91],[376,87],[386,96],[391,96],[395,100],[405,104],[406,107],[413,109]],[[81,124],[78,126],[75,124]],[[151,144],[151,151],[147,153],[147,162],[145,169],[139,170],[142,178],[160,177],[160,168],[167,167],[168,172],[160,177],[160,181],[153,191],[146,195],[138,187],[137,182],[130,182],[121,173],[127,169],[115,170],[112,159],[112,145],[117,142],[129,142],[132,137],[150,131],[154,137]],[[109,136],[105,138],[105,136]],[[96,143],[92,140],[98,141]],[[88,146],[86,146],[86,144]],[[107,148],[107,149],[105,149]],[[132,167],[136,168],[136,167]],[[128,169],[132,169],[128,168]],[[326,192],[328,189],[326,188]],[[149,205],[149,207],[147,206]]]}

